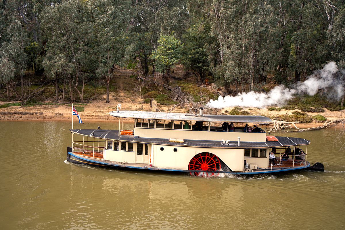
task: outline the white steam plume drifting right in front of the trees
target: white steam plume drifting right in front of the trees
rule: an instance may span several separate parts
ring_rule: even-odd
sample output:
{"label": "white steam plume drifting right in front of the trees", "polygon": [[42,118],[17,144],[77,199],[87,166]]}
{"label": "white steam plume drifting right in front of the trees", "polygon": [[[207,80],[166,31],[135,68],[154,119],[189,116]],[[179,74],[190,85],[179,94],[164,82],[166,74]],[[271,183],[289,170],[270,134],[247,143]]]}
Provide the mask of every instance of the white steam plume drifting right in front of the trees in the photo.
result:
{"label": "white steam plume drifting right in front of the trees", "polygon": [[210,100],[206,108],[223,109],[226,107],[257,107],[282,106],[287,100],[294,98],[296,93],[308,93],[310,96],[315,95],[318,90],[323,89],[329,93],[330,98],[339,99],[344,94],[344,79],[334,78],[334,73],[338,72],[337,65],[331,61],[321,70],[315,71],[307,77],[304,82],[298,82],[293,89],[285,88],[284,85],[276,86],[268,93],[250,91],[248,93],[238,93],[237,96],[221,97],[217,100]]}

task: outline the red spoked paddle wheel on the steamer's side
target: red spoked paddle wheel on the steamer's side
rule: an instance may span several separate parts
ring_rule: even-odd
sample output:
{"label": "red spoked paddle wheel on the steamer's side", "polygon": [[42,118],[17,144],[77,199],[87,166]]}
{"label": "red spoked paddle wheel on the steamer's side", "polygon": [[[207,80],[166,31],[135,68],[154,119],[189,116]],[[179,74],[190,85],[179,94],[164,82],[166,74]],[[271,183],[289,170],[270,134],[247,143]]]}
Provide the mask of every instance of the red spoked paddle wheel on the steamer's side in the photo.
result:
{"label": "red spoked paddle wheel on the steamer's side", "polygon": [[195,171],[210,171],[210,172],[190,172],[190,175],[193,176],[218,176],[218,173],[213,171],[220,170],[220,161],[219,158],[212,153],[203,152],[196,154],[190,161],[188,165],[188,170]]}

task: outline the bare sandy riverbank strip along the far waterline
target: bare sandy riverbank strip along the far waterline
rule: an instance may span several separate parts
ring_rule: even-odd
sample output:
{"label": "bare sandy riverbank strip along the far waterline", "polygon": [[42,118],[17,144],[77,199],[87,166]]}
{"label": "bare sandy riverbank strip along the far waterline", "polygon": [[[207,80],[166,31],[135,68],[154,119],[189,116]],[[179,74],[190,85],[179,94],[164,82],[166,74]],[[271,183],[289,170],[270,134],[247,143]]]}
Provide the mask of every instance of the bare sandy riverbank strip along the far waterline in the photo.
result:
{"label": "bare sandy riverbank strip along the far waterline", "polygon": [[[104,103],[104,100],[96,100],[88,103],[84,106],[84,111],[80,112],[83,121],[110,121],[117,120],[109,115],[110,111],[116,110],[118,102],[112,101],[108,104]],[[141,104],[124,101],[121,102],[122,110],[141,110]],[[169,111],[169,107],[160,107],[164,111]],[[149,104],[143,104],[143,110],[150,111]],[[225,110],[231,110],[232,108],[226,108],[221,110],[225,114]],[[251,109],[251,110],[250,110]],[[281,111],[269,111],[266,108],[244,108],[248,112],[254,115],[262,116],[279,116],[282,114],[292,114],[293,110],[281,110]],[[185,109],[176,108],[174,112],[186,112]],[[329,111],[325,110],[323,113],[308,113],[310,116],[315,114],[322,114],[328,120],[336,120],[339,117],[344,118],[345,114],[341,111]],[[34,107],[7,107],[0,109],[0,120],[71,120],[71,105],[42,105]],[[128,120],[130,121],[130,119]],[[310,128],[320,126],[320,122],[312,122],[306,124],[298,124],[299,128]]]}

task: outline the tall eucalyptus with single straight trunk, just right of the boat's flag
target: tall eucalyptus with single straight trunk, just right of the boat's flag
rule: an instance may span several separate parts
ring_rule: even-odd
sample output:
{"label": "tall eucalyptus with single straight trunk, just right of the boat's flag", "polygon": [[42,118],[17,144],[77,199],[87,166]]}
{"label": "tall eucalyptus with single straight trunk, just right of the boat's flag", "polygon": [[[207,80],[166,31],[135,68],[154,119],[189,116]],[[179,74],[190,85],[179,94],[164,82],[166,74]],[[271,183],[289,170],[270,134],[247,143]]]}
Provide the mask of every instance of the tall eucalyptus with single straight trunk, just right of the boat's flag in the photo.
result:
{"label": "tall eucalyptus with single straight trunk, just right of the boat's flag", "polygon": [[109,103],[109,83],[114,68],[124,57],[126,30],[130,21],[130,1],[90,1],[89,10],[93,19],[96,38],[95,52],[98,60],[97,76],[106,82]]}

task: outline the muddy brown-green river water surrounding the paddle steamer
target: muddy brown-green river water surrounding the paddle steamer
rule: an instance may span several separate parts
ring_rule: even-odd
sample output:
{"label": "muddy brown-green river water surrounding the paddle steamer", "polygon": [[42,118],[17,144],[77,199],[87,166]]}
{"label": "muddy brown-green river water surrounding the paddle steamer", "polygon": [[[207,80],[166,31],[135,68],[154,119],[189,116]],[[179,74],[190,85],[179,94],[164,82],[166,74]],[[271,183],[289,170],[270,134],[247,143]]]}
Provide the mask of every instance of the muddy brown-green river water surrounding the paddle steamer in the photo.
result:
{"label": "muddy brown-green river water surrounding the paddle steamer", "polygon": [[[76,128],[113,128],[88,122]],[[131,129],[127,124],[126,129]],[[1,229],[342,229],[344,136],[311,140],[308,161],[325,172],[198,178],[118,171],[66,161],[69,122],[2,121]],[[339,139],[340,138],[340,139]]]}

